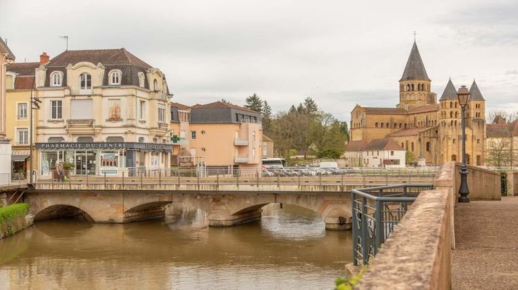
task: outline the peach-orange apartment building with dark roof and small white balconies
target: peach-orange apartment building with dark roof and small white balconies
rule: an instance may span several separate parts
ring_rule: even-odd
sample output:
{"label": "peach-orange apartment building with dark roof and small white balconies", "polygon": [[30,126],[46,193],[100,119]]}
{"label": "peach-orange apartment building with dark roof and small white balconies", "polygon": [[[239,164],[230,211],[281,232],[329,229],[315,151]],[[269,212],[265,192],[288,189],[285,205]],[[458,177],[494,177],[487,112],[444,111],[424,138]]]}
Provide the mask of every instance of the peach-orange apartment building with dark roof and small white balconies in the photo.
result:
{"label": "peach-orange apartment building with dark roof and small white balconies", "polygon": [[173,103],[171,116],[173,162],[178,160],[180,166],[203,164],[208,174],[260,170],[260,113],[216,101],[191,107]]}

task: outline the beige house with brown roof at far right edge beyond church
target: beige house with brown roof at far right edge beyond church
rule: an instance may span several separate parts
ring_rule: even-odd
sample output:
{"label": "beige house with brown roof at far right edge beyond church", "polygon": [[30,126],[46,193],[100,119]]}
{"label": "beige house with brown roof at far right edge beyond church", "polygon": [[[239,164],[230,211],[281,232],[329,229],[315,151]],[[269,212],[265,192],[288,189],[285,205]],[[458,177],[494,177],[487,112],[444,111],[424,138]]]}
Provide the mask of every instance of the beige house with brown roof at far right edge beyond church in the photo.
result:
{"label": "beige house with brown roof at far right edge beyond church", "polygon": [[486,165],[518,166],[518,120],[506,122],[497,115],[487,126]]}

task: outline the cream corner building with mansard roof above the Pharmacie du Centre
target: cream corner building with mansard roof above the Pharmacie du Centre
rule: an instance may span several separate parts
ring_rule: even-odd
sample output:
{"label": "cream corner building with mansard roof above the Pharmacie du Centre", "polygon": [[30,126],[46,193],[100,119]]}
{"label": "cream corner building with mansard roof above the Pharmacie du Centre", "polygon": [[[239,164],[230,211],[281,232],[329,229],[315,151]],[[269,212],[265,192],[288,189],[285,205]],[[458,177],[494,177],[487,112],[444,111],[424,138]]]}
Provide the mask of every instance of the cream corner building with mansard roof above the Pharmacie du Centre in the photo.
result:
{"label": "cream corner building with mansard roof above the Pharmacie du Centre", "polygon": [[170,167],[170,99],[164,74],[124,48],[66,50],[36,69],[41,110],[39,175],[57,162],[75,175]]}

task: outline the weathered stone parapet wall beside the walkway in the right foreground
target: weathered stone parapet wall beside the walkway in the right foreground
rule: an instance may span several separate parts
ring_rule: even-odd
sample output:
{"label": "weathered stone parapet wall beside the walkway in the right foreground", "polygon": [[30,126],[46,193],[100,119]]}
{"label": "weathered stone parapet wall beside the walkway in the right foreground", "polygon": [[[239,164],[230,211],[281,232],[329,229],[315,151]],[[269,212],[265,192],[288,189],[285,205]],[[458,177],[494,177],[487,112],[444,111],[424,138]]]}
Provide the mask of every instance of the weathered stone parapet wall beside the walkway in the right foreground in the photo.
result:
{"label": "weathered stone parapet wall beside the walkway in the right foreground", "polygon": [[[450,289],[459,183],[459,164],[443,164],[436,189],[416,198],[356,288]],[[472,200],[500,200],[499,173],[469,166],[468,186]]]}

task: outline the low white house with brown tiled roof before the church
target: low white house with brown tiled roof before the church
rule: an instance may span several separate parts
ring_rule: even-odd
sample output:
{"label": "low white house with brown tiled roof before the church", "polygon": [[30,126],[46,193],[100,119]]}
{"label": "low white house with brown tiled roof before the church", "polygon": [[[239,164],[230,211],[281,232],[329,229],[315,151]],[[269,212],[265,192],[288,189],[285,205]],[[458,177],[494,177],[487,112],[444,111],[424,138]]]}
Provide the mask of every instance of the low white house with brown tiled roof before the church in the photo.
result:
{"label": "low white house with brown tiled roof before the church", "polygon": [[391,138],[350,141],[345,148],[345,160],[352,167],[405,167],[405,149]]}

